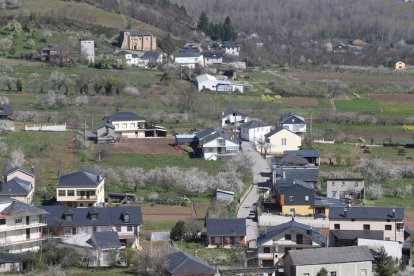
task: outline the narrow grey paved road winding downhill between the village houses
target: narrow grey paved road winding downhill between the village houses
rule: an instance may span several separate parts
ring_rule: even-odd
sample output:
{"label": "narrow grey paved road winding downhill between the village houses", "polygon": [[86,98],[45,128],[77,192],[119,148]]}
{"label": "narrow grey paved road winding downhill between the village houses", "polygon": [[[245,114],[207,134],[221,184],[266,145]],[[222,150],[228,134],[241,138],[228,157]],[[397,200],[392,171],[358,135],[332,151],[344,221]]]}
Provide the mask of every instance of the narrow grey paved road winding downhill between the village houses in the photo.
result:
{"label": "narrow grey paved road winding downhill between the village houses", "polygon": [[[243,202],[240,203],[239,211],[237,212],[238,218],[247,218],[250,211],[252,210],[253,203],[258,200],[257,184],[263,183],[268,180],[270,170],[270,161],[263,159],[252,144],[249,142],[242,143],[243,152],[246,153],[253,161],[253,188],[250,190],[248,195],[245,197]],[[259,226],[256,221],[247,219],[247,240],[255,240],[259,235]],[[250,246],[255,247],[255,243],[251,243]]]}

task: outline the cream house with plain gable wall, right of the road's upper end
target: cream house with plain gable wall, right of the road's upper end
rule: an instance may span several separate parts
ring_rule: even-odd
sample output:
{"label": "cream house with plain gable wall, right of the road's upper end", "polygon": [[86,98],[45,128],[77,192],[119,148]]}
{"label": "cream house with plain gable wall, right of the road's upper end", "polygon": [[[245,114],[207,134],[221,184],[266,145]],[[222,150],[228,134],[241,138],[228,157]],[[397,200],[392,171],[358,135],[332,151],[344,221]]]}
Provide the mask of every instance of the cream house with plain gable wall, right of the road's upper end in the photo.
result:
{"label": "cream house with plain gable wall, right of the road's upper end", "polygon": [[302,138],[284,127],[278,127],[264,137],[266,154],[281,155],[287,150],[298,150],[302,145]]}

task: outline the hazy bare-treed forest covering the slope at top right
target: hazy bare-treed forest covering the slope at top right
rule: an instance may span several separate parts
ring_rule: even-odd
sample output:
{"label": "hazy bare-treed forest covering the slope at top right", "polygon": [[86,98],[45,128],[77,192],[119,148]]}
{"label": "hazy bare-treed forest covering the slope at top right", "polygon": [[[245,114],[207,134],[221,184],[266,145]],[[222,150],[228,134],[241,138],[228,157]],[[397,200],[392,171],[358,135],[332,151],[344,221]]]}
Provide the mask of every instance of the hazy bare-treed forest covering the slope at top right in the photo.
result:
{"label": "hazy bare-treed forest covering the slope at top right", "polygon": [[[205,11],[210,20],[230,16],[238,31],[257,32],[264,48],[255,59],[299,63],[380,64],[384,56],[413,59],[414,4],[397,0],[172,0],[193,18]],[[360,38],[361,55],[338,58],[324,53],[324,43]],[[319,43],[319,45],[315,45]],[[250,45],[251,46],[251,45]],[[249,49],[249,45],[246,45]],[[391,53],[387,53],[392,49]],[[245,57],[248,59],[251,53]],[[413,60],[414,61],[414,60]]]}

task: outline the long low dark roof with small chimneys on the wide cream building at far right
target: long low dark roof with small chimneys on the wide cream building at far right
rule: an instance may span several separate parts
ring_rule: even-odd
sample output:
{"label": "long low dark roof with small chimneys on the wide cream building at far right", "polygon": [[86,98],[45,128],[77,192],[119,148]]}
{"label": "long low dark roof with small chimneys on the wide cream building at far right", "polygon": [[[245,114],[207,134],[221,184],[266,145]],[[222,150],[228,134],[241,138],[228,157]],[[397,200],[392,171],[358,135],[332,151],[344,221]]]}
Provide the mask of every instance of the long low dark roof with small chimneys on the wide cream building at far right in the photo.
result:
{"label": "long low dark roof with small chimneys on the wide cream building at far right", "polygon": [[[346,215],[345,215],[346,209]],[[395,215],[393,215],[395,210]],[[333,207],[329,210],[329,219],[367,219],[367,220],[387,220],[404,219],[404,208],[392,207]]]}

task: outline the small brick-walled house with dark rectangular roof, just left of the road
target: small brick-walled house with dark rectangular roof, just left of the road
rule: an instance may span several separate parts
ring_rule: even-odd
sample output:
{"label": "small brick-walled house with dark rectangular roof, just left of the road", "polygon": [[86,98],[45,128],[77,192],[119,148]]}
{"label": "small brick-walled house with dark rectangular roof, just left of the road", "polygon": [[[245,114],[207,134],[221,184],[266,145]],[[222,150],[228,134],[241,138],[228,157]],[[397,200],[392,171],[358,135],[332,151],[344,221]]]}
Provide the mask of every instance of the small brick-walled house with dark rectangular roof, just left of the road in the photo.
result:
{"label": "small brick-walled house with dark rectangular roof, just left of the road", "polygon": [[208,248],[231,248],[246,244],[246,219],[207,218]]}

